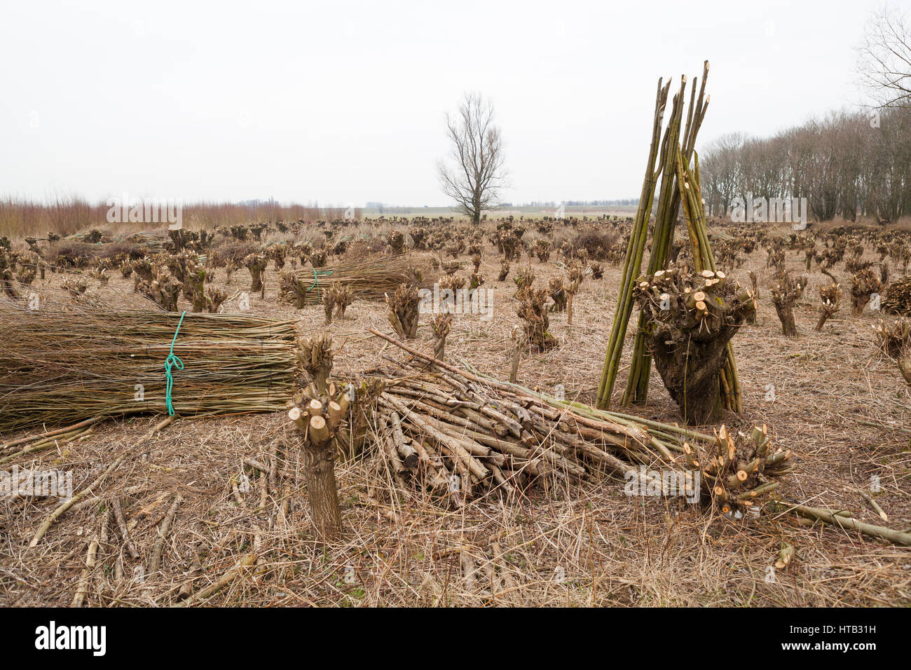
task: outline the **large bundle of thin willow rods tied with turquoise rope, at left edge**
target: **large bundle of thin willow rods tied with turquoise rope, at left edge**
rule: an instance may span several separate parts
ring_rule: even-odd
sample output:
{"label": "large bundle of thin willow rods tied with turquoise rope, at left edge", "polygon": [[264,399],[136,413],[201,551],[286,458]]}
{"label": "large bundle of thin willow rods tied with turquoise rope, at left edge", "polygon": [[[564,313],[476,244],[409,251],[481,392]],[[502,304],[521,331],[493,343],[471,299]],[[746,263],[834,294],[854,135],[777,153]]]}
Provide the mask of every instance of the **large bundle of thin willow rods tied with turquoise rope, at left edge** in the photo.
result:
{"label": "large bundle of thin willow rods tied with turquoise rope, at left edge", "polygon": [[243,314],[0,308],[0,433],[86,417],[278,411],[292,397],[292,321]]}

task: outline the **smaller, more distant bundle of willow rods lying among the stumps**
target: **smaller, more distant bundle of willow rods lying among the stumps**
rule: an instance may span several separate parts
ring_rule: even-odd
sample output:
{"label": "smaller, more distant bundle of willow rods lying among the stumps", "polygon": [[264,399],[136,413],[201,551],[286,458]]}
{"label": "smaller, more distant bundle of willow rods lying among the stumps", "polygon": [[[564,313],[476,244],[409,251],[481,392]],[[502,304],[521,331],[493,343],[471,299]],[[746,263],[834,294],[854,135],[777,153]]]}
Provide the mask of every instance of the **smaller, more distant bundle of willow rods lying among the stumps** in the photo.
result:
{"label": "smaller, more distant bundle of willow rods lying among the stumps", "polygon": [[345,260],[342,263],[282,273],[279,295],[298,309],[307,304],[322,303],[322,294],[330,285],[340,283],[354,298],[382,300],[402,283],[421,283],[429,265],[415,273],[415,261],[404,255],[374,254]]}

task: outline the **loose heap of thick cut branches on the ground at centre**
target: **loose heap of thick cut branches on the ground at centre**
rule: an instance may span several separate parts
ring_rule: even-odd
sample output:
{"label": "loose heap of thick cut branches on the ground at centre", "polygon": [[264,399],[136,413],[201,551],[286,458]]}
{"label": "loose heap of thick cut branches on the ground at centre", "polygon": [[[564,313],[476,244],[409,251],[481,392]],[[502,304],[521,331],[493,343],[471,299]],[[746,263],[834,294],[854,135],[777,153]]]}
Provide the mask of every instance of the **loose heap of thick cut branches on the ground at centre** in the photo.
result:
{"label": "loose heap of thick cut branches on the ground at centre", "polygon": [[[663,479],[687,479],[701,469],[691,454],[709,454],[717,445],[716,437],[676,425],[479,376],[371,332],[416,356],[397,371],[384,371],[375,414],[379,451],[402,490],[420,486],[464,504],[473,495],[509,495],[542,479],[578,482],[599,471],[639,479],[645,466],[659,491],[669,493]],[[763,448],[769,449],[767,441]],[[741,491],[747,495],[770,481],[758,479],[756,469],[749,472],[753,486]],[[712,487],[702,493],[714,499]]]}

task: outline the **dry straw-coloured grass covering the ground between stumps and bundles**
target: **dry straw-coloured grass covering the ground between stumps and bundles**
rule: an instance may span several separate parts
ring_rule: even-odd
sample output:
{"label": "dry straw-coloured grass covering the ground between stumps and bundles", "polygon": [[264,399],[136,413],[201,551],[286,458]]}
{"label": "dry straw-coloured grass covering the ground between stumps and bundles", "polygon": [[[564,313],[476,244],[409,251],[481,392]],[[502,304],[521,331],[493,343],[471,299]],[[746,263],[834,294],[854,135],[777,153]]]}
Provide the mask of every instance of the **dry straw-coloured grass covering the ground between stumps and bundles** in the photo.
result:
{"label": "dry straw-coloured grass covering the ground between stumps and bundles", "polygon": [[[493,222],[483,226],[492,230]],[[374,234],[382,239],[390,227],[375,226]],[[576,231],[558,226],[553,234],[558,240],[569,239]],[[275,239],[284,238],[276,232]],[[873,245],[866,246],[865,258],[875,260]],[[14,238],[13,248],[26,251],[21,238]],[[407,253],[415,263],[428,263],[437,255]],[[787,266],[804,273],[803,254],[785,253]],[[480,274],[492,292],[492,318],[455,315],[446,360],[507,379],[518,324],[513,277],[530,263],[543,285],[565,275],[563,261],[558,254],[548,263],[529,261],[523,254],[513,262],[507,280],[498,282],[499,256],[486,242]],[[604,265],[604,277],[588,274],[576,294],[572,325],[565,313],[550,315],[550,333],[558,346],[524,353],[518,383],[546,393],[560,386],[568,399],[595,402],[620,280],[618,264]],[[729,275],[749,286],[747,270],[758,273],[760,294],[756,323],[743,325],[732,340],[744,410],[740,415],[726,412],[723,423],[744,431],[764,423],[776,447],[792,451],[796,471],[777,491],[783,500],[846,510],[856,520],[908,530],[911,387],[876,345],[872,326],[882,314],[868,308],[853,316],[845,304],[815,332],[816,286],[829,280],[814,264],[806,273],[810,286],[795,309],[799,336],[785,337],[770,301],[773,271],[766,267],[762,246],[741,266],[730,268]],[[34,281],[32,290],[60,294],[60,283],[79,272],[47,273],[45,280]],[[847,286],[841,268],[833,272]],[[91,293],[95,284],[87,281]],[[221,311],[238,311],[238,294],[249,291],[250,283],[246,269],[235,270],[230,280],[224,270],[216,270],[212,284],[233,296]],[[118,307],[112,303],[120,299],[124,305],[135,304],[133,284],[132,278],[110,273],[105,294],[115,297],[107,307]],[[344,318],[324,325],[321,305],[295,309],[280,302],[280,276],[272,263],[264,284],[263,297],[250,295],[249,314],[292,319],[300,335],[331,335],[336,350],[333,378],[354,379],[408,357],[367,332],[374,327],[393,334],[383,301],[357,299]],[[6,296],[2,301],[11,302]],[[156,308],[148,304],[148,309]],[[189,309],[189,303],[181,298],[179,309]],[[635,322],[627,333],[615,403],[634,331]],[[409,344],[432,351],[425,316]],[[189,368],[193,361],[187,358],[184,363]],[[179,373],[174,383],[179,387]],[[681,420],[654,370],[648,403],[624,411],[666,423]],[[630,497],[621,479],[593,472],[582,480],[542,477],[523,494],[495,492],[454,508],[418,487],[403,490],[375,448],[361,458],[336,463],[343,541],[324,545],[308,517],[302,461],[285,412],[178,417],[137,445],[162,418],[112,418],[79,438],[60,440],[0,466],[71,470],[73,490],[80,491],[124,457],[34,547],[29,543],[56,508],[56,499],[0,501],[0,604],[63,606],[73,603],[77,593],[92,606],[188,601],[352,607],[911,603],[911,549],[802,520],[774,506],[758,517],[733,519],[711,505]],[[701,429],[711,433],[717,428],[720,425]],[[0,442],[35,432],[7,433],[0,435]],[[0,456],[8,453],[0,451]],[[270,462],[277,464],[274,477],[255,467]],[[874,477],[879,488],[872,495],[888,521],[867,500]],[[250,485],[238,487],[238,481]],[[177,494],[181,500],[169,533],[159,536]],[[115,498],[138,558],[131,556],[110,519]],[[159,537],[161,568],[148,574],[148,559]],[[770,569],[784,544],[793,546],[793,561],[786,569]],[[92,547],[97,562],[87,570]],[[220,588],[209,593],[210,585]]]}

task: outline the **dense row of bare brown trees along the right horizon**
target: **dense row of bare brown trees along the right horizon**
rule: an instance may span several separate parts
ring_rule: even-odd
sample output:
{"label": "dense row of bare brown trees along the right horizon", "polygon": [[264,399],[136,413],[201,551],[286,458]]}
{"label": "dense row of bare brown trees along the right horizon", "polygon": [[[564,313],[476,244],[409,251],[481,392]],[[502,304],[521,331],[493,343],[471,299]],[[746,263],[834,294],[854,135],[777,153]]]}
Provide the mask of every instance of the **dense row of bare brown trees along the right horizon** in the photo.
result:
{"label": "dense row of bare brown trees along the right horizon", "polygon": [[911,108],[834,112],[771,138],[739,133],[701,151],[702,197],[712,215],[734,198],[806,198],[818,221],[911,214]]}

